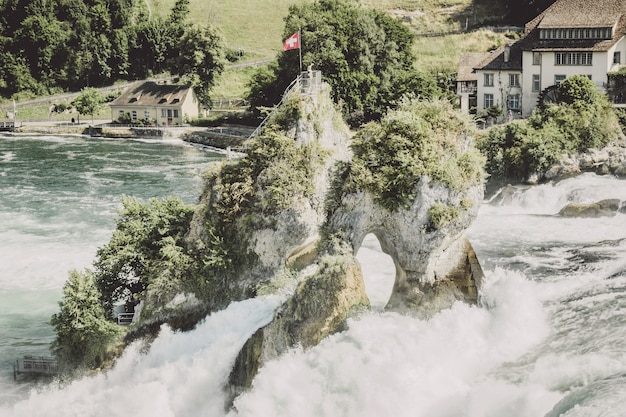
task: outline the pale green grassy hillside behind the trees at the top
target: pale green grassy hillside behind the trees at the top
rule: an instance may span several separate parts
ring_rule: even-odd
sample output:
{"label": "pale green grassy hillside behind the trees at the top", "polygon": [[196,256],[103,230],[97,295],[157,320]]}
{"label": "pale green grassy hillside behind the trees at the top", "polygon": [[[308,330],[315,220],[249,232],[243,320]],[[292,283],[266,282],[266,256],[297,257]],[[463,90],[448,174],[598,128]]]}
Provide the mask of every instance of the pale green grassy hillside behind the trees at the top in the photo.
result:
{"label": "pale green grassy hillside behind the trees at the top", "polygon": [[[148,0],[153,14],[167,16],[175,0]],[[226,45],[241,49],[247,60],[272,59],[282,50],[284,18],[292,4],[313,0],[191,0],[193,23],[219,28]],[[474,5],[472,0],[359,0],[365,7],[376,8],[402,19],[416,34],[416,66],[427,72],[454,72],[462,51],[479,52],[504,42],[502,34],[489,30],[445,36],[422,36],[433,33],[460,32],[475,27],[497,15],[493,8]],[[232,70],[224,74],[213,96],[241,97],[251,70]]]}

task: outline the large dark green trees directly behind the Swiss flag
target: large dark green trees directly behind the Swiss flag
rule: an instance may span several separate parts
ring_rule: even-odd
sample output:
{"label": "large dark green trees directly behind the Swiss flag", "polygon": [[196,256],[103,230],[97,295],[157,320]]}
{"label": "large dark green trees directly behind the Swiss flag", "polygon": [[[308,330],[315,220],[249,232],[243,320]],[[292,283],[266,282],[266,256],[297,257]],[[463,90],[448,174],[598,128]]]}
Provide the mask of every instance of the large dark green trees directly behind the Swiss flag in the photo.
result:
{"label": "large dark green trees directly behind the Swiss flag", "polygon": [[[360,7],[351,0],[319,0],[294,5],[284,37],[301,29],[303,67],[313,65],[332,87],[332,95],[352,122],[380,118],[396,105],[407,85],[429,98],[438,94],[434,79],[414,69],[413,37],[398,19]],[[279,55],[251,82],[253,106],[276,104],[300,74],[297,51]]]}

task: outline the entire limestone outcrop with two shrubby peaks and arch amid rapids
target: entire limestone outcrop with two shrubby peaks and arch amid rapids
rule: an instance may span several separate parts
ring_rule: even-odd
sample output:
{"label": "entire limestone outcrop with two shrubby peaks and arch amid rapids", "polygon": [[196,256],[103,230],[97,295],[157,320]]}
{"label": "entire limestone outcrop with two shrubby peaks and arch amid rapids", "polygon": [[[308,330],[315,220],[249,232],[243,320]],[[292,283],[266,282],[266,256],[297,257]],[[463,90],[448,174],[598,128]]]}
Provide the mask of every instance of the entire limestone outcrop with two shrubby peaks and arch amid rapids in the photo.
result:
{"label": "entire limestone outcrop with two shrubby peaks and arch amid rapids", "polygon": [[482,271],[464,231],[484,174],[472,125],[445,101],[413,100],[351,135],[319,74],[294,84],[246,156],[207,173],[184,247],[150,268],[136,332],[282,294],[236,360],[234,397],[264,362],[369,308],[356,254],[370,233],[395,264],[387,310],[424,317],[476,302]]}

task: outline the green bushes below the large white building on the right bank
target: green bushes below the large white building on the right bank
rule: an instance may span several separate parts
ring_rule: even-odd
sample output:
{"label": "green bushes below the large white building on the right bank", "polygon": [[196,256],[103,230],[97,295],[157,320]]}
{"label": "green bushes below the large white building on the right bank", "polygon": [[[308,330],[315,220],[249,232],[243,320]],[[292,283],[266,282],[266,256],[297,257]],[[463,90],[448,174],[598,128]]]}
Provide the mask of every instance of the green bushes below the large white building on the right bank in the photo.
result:
{"label": "green bushes below the large white building on the right bank", "polygon": [[602,148],[618,136],[615,112],[587,77],[569,77],[557,92],[558,103],[535,109],[527,121],[495,126],[479,141],[490,175],[524,181],[563,154]]}

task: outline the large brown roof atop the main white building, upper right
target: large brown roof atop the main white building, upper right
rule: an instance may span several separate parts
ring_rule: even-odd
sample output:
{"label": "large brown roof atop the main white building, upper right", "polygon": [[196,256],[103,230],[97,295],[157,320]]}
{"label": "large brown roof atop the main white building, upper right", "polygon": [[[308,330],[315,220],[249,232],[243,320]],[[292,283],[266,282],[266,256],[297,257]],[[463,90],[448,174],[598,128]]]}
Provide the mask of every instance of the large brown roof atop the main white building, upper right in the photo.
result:
{"label": "large brown roof atop the main white building, upper right", "polygon": [[[614,28],[613,39],[540,39],[548,28]],[[525,26],[523,50],[606,51],[626,35],[626,0],[557,0]]]}

